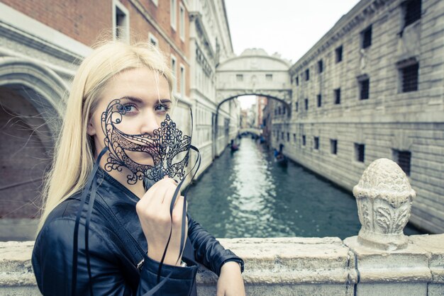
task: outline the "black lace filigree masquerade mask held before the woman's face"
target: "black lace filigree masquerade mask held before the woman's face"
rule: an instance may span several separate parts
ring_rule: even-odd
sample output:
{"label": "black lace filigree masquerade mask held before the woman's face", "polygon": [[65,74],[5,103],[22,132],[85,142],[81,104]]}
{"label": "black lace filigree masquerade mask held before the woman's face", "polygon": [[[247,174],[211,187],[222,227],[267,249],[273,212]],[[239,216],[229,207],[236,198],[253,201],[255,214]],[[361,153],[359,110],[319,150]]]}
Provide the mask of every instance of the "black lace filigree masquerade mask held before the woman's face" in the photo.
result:
{"label": "black lace filigree masquerade mask held before the woman's face", "polygon": [[[168,114],[151,135],[128,135],[118,129],[125,114],[126,108],[119,99],[111,101],[102,113],[101,127],[105,134],[105,146],[109,149],[105,170],[122,171],[126,167],[131,171],[127,176],[128,184],[146,179],[157,182],[164,176],[183,180],[192,138],[183,135]],[[140,164],[131,159],[127,152],[147,153],[153,164]]]}

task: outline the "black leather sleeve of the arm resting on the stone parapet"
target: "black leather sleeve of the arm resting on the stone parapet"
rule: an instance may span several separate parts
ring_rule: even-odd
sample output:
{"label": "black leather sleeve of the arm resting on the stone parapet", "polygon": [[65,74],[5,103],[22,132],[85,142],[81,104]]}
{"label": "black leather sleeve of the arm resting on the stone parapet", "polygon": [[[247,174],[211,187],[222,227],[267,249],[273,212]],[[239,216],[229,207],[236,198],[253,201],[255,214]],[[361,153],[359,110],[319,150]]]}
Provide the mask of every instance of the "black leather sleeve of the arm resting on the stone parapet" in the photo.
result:
{"label": "black leather sleeve of the arm resting on the stone parapet", "polygon": [[240,263],[243,271],[243,260],[236,256],[232,251],[223,248],[219,241],[207,232],[204,227],[188,217],[188,237],[194,247],[194,256],[196,261],[204,264],[213,273],[221,275],[223,263],[236,261]]}

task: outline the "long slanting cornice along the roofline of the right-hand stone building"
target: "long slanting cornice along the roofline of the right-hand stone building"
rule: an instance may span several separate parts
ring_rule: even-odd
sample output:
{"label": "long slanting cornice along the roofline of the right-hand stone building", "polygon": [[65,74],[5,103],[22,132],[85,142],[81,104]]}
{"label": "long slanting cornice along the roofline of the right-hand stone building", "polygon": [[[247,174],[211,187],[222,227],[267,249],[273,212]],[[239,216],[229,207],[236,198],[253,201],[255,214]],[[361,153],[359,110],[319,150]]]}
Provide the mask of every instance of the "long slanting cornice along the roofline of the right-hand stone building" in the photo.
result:
{"label": "long slanting cornice along the roofline of the right-hand stone building", "polygon": [[347,14],[342,16],[338,22],[333,25],[333,28],[328,30],[326,35],[316,42],[311,49],[306,52],[304,56],[298,59],[297,62],[293,64],[290,68],[290,74],[294,75],[299,72],[300,69],[306,67],[315,57],[325,51],[328,47],[333,45],[333,43],[343,38],[344,35],[348,34],[357,25],[365,21],[368,16],[374,14],[376,11],[380,10],[389,3],[395,0],[362,0],[355,5]]}

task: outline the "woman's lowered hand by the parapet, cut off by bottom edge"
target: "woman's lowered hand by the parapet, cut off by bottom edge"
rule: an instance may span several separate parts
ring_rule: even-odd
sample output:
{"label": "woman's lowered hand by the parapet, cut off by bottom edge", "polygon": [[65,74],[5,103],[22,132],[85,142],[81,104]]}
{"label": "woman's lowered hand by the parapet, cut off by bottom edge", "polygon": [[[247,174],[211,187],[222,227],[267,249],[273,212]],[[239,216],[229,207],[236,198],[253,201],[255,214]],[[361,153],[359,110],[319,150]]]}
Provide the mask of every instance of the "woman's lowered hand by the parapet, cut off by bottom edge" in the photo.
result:
{"label": "woman's lowered hand by the parapet, cut off by bottom edge", "polygon": [[228,261],[223,264],[217,281],[217,296],[245,296],[239,263]]}

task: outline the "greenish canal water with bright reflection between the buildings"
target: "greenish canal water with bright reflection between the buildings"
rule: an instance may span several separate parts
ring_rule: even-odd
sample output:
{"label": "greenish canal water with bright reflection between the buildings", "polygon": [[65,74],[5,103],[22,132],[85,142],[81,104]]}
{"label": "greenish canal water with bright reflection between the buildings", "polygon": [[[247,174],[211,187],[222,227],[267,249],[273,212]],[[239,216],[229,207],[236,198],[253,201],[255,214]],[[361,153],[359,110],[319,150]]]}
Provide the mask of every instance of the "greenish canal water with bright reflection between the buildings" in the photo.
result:
{"label": "greenish canal water with bright reflection between the buildings", "polygon": [[[215,237],[352,237],[360,222],[352,193],[250,138],[225,152],[188,193],[189,214]],[[419,234],[407,225],[405,234]]]}

